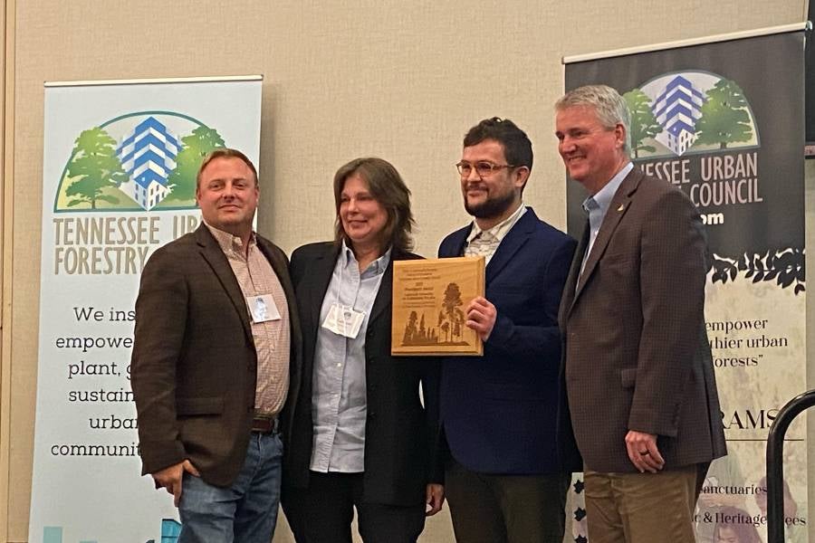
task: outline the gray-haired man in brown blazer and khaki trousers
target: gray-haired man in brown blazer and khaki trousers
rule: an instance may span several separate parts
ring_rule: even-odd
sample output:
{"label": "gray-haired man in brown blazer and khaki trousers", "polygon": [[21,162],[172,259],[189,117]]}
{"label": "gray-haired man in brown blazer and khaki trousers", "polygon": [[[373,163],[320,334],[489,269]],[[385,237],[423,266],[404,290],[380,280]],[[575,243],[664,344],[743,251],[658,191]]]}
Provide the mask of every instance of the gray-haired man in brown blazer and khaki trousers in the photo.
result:
{"label": "gray-haired man in brown blazer and khaki trousers", "polygon": [[583,458],[589,538],[692,543],[707,466],[725,454],[703,225],[681,190],[631,164],[616,90],[571,90],[555,110],[567,172],[590,194],[559,315],[562,435]]}

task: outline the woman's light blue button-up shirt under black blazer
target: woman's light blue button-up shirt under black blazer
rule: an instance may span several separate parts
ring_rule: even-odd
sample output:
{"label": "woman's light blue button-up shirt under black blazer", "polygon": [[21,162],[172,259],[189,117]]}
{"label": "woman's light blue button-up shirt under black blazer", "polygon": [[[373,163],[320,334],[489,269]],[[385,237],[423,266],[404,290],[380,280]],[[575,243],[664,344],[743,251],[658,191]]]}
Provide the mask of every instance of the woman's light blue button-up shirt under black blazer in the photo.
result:
{"label": "woman's light blue button-up shirt under black blazer", "polygon": [[360,273],[354,253],[342,244],[328,291],[322,300],[320,322],[335,303],[365,313],[356,338],[346,338],[322,326],[317,331],[312,375],[314,472],[357,473],[365,470],[365,333],[390,249]]}

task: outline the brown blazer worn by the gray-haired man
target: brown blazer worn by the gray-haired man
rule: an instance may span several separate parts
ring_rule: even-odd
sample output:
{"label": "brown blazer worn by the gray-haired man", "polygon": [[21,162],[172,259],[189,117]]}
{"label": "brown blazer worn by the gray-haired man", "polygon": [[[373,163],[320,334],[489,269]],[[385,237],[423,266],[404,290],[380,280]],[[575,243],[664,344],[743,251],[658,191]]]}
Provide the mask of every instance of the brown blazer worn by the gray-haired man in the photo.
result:
{"label": "brown blazer worn by the gray-haired man", "polygon": [[666,469],[723,456],[705,334],[705,231],[695,205],[635,167],[580,274],[587,243],[584,235],[559,315],[565,423],[585,467],[635,472],[628,430],[657,434]]}

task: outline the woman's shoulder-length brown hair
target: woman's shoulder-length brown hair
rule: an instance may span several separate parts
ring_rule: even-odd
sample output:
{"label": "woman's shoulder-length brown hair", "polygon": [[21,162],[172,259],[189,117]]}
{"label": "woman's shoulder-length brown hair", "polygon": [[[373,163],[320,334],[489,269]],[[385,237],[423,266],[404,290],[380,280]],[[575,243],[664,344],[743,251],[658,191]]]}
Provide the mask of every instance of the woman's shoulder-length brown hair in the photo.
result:
{"label": "woman's shoulder-length brown hair", "polygon": [[340,167],[334,175],[334,204],[337,210],[336,241],[340,243],[344,240],[350,244],[348,234],[342,229],[342,221],[340,221],[340,200],[346,180],[354,174],[360,176],[368,184],[370,195],[388,213],[388,221],[385,223],[380,239],[382,248],[391,245],[394,251],[409,252],[413,248],[413,238],[410,233],[416,224],[410,211],[410,189],[393,165],[377,157],[355,158]]}

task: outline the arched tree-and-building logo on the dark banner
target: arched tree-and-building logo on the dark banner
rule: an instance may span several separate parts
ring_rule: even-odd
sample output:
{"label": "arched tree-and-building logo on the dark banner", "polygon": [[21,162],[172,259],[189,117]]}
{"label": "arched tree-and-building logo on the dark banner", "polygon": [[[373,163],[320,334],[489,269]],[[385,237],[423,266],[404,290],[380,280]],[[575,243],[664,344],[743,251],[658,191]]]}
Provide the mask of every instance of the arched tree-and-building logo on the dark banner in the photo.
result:
{"label": "arched tree-and-building logo on the dark banner", "polygon": [[635,158],[757,148],[753,110],[739,85],[708,71],[662,74],[624,94]]}

